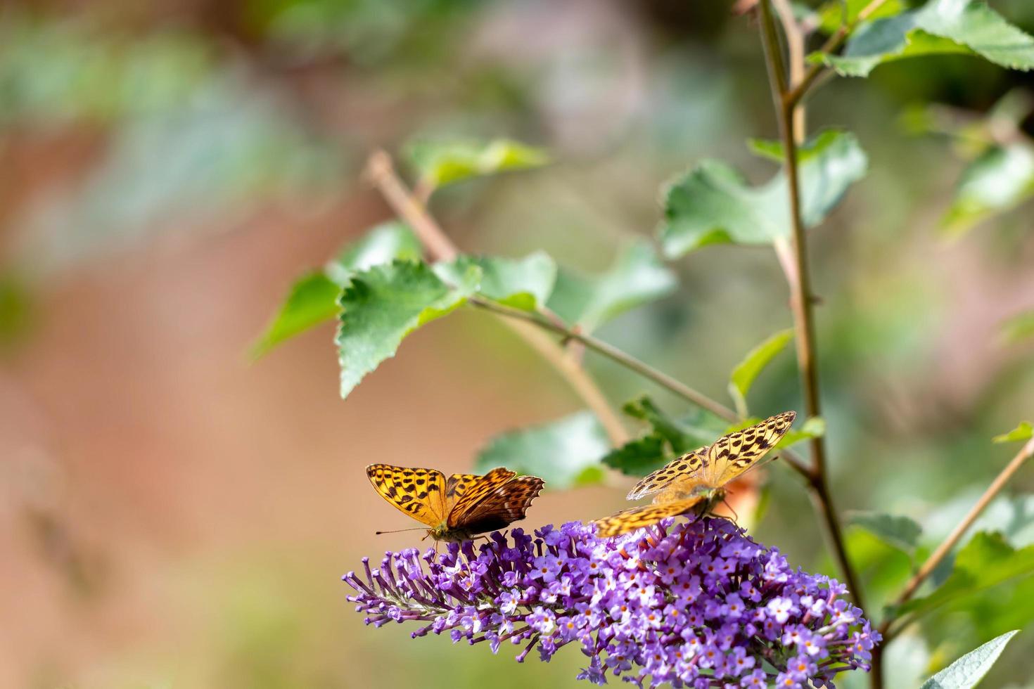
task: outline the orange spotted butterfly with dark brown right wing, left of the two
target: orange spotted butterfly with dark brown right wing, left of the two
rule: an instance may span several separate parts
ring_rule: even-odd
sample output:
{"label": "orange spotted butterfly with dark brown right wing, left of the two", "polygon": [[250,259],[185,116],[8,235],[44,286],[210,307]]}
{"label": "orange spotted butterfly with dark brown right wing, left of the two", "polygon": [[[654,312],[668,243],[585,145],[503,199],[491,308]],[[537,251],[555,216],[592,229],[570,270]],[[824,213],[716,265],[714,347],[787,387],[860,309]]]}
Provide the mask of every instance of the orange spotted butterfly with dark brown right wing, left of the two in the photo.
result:
{"label": "orange spotted butterfly with dark brown right wing, left of the two", "polygon": [[498,467],[484,476],[371,464],[366,475],[385,500],[427,526],[435,540],[461,542],[524,519],[545,483]]}

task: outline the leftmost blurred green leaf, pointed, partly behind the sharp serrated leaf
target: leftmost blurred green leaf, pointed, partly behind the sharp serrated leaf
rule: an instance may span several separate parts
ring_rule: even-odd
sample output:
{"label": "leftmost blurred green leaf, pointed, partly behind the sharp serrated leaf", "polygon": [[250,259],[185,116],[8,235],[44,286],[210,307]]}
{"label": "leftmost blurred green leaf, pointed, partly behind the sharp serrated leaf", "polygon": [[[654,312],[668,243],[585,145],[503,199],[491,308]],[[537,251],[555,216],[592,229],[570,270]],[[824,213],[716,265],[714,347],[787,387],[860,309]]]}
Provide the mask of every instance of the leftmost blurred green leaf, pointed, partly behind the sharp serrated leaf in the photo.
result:
{"label": "leftmost blurred green leaf, pointed, partly behind the sharp serrated leaf", "polygon": [[339,311],[341,288],[357,272],[395,259],[418,260],[421,252],[419,240],[406,225],[386,222],[373,227],[345,246],[323,273],[307,273],[295,281],[273,322],[252,346],[251,355],[262,356],[284,340],[333,319]]}

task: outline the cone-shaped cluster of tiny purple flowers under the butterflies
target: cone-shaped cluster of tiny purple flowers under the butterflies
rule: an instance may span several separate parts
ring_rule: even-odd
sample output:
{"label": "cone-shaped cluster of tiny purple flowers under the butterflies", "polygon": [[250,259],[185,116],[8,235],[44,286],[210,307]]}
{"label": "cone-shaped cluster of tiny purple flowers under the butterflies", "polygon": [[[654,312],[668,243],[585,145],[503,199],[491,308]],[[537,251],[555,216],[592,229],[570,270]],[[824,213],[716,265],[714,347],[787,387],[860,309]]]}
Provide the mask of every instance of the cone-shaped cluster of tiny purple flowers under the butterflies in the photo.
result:
{"label": "cone-shaped cluster of tiny purple flowers under the butterflies", "polygon": [[577,643],[589,658],[578,678],[596,684],[610,672],[640,687],[832,687],[838,672],[868,670],[880,640],[843,585],[794,571],[727,520],[535,535],[388,553],[376,569],[364,559],[365,575],[344,576],[348,600],[367,624],[420,622],[414,637],[523,644],[518,662]]}

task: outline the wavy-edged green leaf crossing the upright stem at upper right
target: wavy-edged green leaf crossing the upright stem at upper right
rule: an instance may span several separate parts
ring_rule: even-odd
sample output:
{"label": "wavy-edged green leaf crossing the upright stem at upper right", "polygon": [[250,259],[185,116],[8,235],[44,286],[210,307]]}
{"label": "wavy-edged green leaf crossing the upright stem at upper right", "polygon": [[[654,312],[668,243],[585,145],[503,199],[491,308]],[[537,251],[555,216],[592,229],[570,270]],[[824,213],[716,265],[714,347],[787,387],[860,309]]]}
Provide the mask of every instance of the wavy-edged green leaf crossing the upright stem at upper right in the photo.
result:
{"label": "wavy-edged green leaf crossing the upright stem at upper right", "polygon": [[[799,156],[801,219],[813,227],[864,176],[869,160],[854,134],[838,129],[818,133]],[[661,245],[669,258],[709,244],[768,245],[791,229],[784,173],[752,187],[717,160],[701,162],[668,187],[664,214]]]}

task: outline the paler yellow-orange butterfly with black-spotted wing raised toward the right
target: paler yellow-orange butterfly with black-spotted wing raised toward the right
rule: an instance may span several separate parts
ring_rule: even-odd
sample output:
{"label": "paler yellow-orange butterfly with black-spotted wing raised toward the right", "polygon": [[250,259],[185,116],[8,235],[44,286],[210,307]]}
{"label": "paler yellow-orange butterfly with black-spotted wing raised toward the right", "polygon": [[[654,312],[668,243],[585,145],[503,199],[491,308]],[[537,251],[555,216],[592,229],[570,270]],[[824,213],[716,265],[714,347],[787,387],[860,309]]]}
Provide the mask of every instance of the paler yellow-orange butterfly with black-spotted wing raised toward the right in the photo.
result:
{"label": "paler yellow-orange butterfly with black-spotted wing raised toward the right", "polygon": [[616,536],[691,511],[706,514],[725,497],[725,486],[767,455],[796,416],[793,411],[777,414],[672,460],[629,492],[629,500],[652,495],[653,504],[596,520],[597,535]]}

